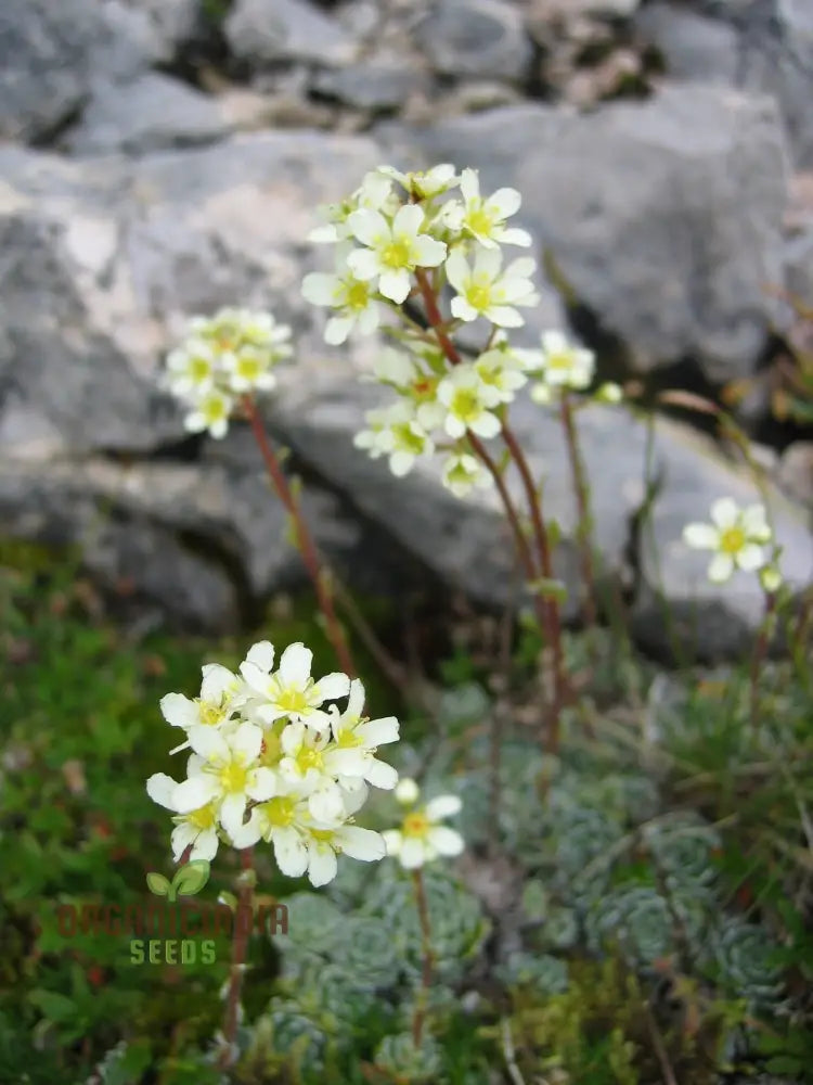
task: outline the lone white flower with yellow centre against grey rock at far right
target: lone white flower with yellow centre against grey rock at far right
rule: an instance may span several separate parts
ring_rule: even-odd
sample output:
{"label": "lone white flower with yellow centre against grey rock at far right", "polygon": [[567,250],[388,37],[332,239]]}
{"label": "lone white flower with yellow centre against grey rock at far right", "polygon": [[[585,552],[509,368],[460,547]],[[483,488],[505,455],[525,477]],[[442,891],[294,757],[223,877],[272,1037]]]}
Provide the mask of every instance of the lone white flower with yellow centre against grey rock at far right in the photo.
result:
{"label": "lone white flower with yellow centre against grey rock at far right", "polygon": [[683,539],[693,549],[715,551],[708,573],[712,583],[725,583],[735,569],[756,572],[767,563],[764,547],[772,532],[763,505],[740,509],[733,498],[721,497],[711,506],[710,515],[710,524],[687,524]]}

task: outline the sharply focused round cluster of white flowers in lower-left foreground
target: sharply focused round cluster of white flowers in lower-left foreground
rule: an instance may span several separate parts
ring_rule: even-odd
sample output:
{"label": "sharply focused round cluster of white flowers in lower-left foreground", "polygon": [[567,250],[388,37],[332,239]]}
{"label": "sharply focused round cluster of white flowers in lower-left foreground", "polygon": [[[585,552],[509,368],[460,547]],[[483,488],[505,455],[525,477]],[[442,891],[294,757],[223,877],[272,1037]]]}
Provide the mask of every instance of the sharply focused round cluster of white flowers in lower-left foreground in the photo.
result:
{"label": "sharply focused round cluster of white flowers in lower-left foreground", "polygon": [[[151,776],[150,796],[171,810],[176,861],[211,859],[219,842],[244,848],[271,843],[280,870],[306,871],[314,885],[336,875],[336,856],[384,857],[383,837],[353,815],[367,784],[391,790],[393,768],[376,757],[398,740],[398,720],[367,719],[364,687],[339,672],[311,677],[312,653],[291,644],[274,668],[274,649],[260,641],[234,674],[203,668],[201,694],[167,693],[164,718],[184,732],[172,753],[190,749],[186,779]],[[347,698],[344,711],[333,703]],[[331,703],[328,703],[331,702]]]}

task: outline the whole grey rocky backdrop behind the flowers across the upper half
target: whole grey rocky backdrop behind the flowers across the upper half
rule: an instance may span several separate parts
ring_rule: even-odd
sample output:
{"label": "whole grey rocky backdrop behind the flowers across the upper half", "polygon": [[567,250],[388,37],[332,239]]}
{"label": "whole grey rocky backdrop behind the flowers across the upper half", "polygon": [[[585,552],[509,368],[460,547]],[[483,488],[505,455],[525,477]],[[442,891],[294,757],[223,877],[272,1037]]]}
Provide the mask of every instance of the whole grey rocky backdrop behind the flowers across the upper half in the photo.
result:
{"label": "whole grey rocky backdrop behind the flowers across the upper half", "polygon": [[[323,263],[318,204],[384,162],[452,161],[521,191],[567,283],[544,284],[526,335],[570,327],[603,378],[649,390],[747,380],[740,418],[801,589],[813,446],[769,397],[793,335],[777,291],[813,302],[811,102],[809,0],[4,0],[0,537],[67,545],[147,614],[204,629],[298,583],[249,434],[190,438],[156,383],[185,317],[261,306],[295,329],[269,422],[339,570],[504,602],[492,497],[457,502],[428,469],[396,484],[353,450],[375,343],[325,347],[299,294]],[[557,423],[520,404],[517,424],[573,588]],[[590,408],[582,432],[603,573],[640,640],[664,648],[666,599],[701,654],[739,651],[758,588],[712,589],[680,541],[715,497],[756,496],[737,457],[624,408]]]}

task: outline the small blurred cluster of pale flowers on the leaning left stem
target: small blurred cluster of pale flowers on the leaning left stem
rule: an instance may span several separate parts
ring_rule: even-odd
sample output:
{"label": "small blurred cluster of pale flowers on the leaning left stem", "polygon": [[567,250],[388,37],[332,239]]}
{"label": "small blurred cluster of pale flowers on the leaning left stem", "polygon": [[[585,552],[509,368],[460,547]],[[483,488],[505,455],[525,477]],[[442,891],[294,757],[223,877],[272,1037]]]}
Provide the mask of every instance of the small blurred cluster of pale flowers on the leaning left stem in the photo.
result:
{"label": "small blurred cluster of pale flowers on the leaning left stem", "polygon": [[193,318],[165,373],[166,386],[188,408],[185,427],[223,437],[240,396],[274,387],[274,367],[292,353],[289,337],[291,329],[270,312],[227,308]]}

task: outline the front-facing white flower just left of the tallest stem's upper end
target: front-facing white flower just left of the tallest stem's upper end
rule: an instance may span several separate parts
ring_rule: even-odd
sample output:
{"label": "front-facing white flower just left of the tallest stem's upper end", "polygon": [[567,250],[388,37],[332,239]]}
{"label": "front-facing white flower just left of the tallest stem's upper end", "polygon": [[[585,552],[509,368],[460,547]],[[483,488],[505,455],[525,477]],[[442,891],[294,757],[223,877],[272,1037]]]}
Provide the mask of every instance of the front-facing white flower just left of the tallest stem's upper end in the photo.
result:
{"label": "front-facing white flower just left of the tallest stem's upper end", "polygon": [[358,279],[378,280],[378,290],[400,305],[410,292],[410,276],[417,267],[437,267],[446,245],[422,233],[424,213],[417,204],[401,207],[391,222],[380,212],[359,209],[348,218],[353,237],[366,245],[347,257]]}

